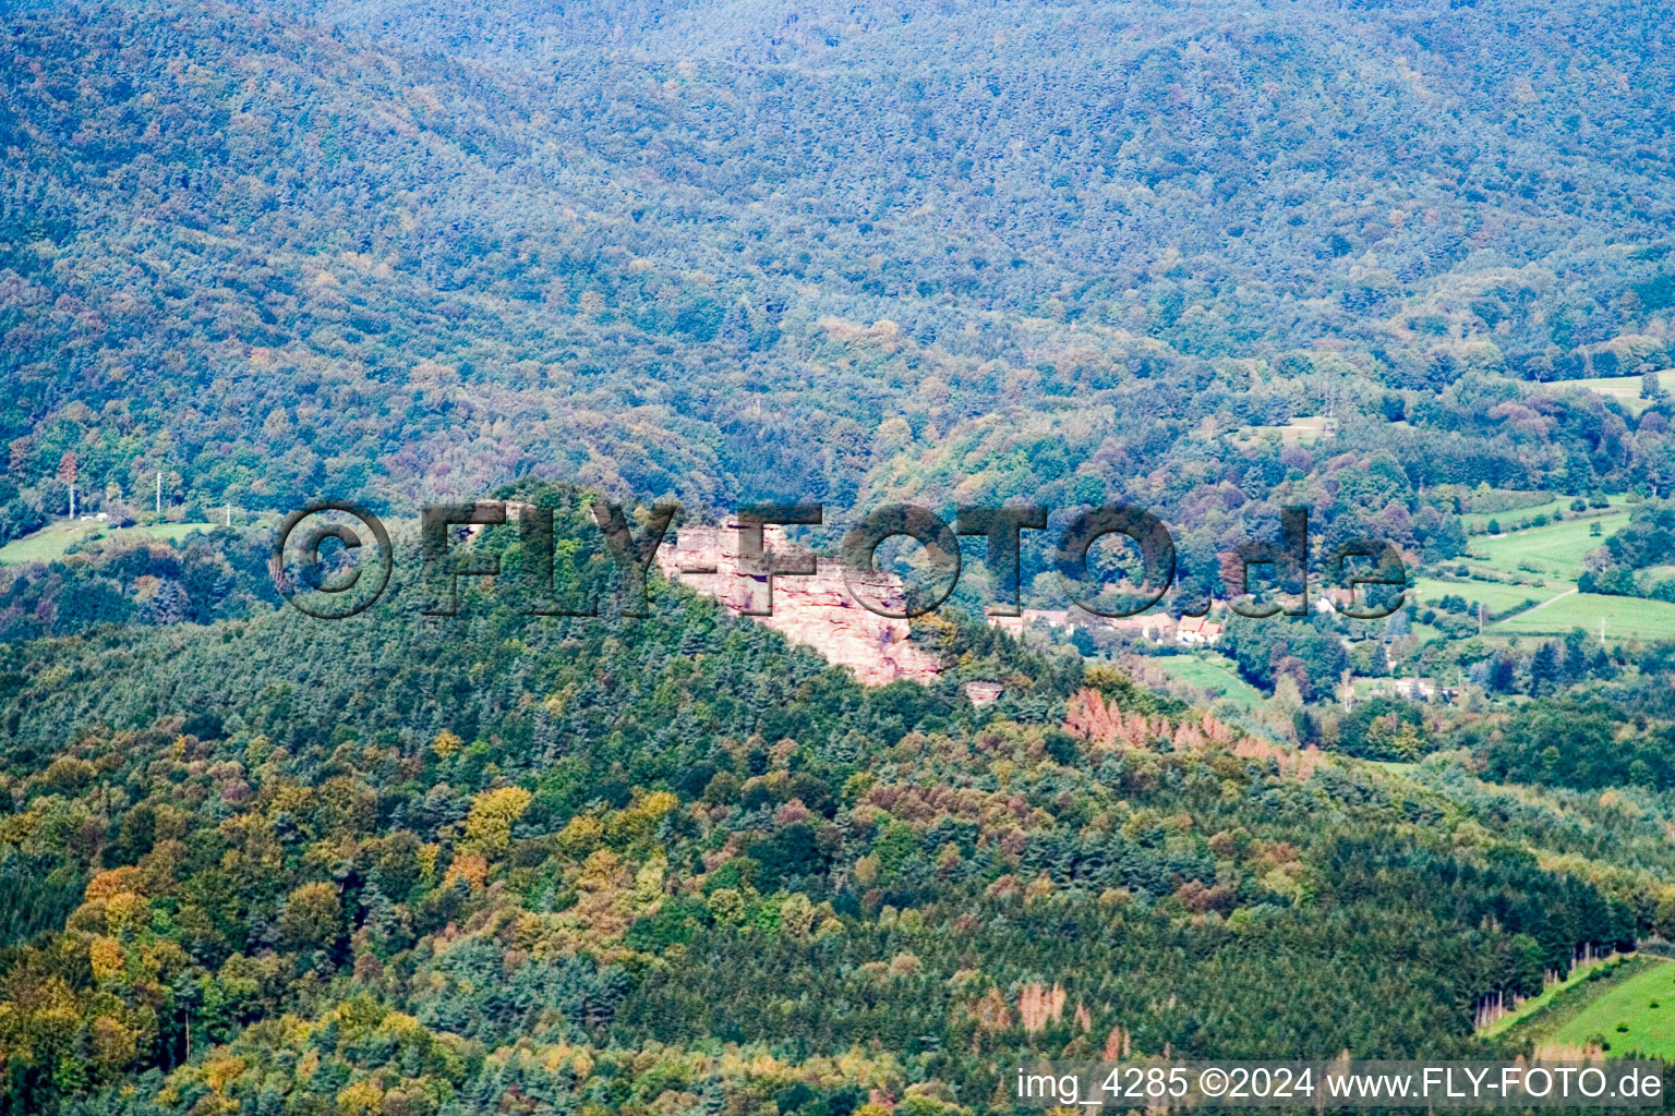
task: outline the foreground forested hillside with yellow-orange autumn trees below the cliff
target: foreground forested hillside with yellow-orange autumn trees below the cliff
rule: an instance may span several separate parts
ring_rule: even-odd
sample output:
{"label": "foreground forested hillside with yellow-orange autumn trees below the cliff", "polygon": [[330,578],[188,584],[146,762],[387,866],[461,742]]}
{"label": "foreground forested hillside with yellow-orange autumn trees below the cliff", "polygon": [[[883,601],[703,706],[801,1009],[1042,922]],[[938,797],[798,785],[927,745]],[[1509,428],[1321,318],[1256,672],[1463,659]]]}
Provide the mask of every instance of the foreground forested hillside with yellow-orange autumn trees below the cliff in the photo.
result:
{"label": "foreground forested hillside with yellow-orange autumn trees below the cliff", "polygon": [[1645,796],[1322,760],[958,627],[1000,704],[668,587],[466,606],[7,646],[7,1111],[982,1109],[1025,1054],[1482,1052],[1484,997],[1675,932]]}

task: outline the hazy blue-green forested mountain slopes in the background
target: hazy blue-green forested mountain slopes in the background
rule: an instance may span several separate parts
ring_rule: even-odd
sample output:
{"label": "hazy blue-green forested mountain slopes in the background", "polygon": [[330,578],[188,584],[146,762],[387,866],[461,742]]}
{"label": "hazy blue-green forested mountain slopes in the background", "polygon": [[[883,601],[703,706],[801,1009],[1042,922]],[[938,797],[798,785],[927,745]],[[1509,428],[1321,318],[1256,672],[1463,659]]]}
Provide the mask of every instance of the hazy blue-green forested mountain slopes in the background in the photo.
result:
{"label": "hazy blue-green forested mountain slopes in the background", "polygon": [[1357,490],[1379,452],[1668,485],[1667,403],[1533,385],[1668,365],[1658,13],[1224,7],[25,7],[0,529],[157,472],[1126,495],[1206,539],[1318,485],[1422,519]]}

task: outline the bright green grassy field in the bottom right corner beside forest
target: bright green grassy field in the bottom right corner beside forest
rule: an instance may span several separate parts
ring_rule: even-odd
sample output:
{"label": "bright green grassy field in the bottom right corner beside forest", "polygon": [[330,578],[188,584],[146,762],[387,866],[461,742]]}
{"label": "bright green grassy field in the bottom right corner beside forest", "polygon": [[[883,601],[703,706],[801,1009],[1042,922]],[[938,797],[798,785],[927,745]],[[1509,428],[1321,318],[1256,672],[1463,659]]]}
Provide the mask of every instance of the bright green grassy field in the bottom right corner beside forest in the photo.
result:
{"label": "bright green grassy field in the bottom right corner beside forest", "polygon": [[1574,1054],[1601,1037],[1611,1056],[1675,1057],[1675,964],[1631,957],[1598,980],[1580,980],[1513,1021],[1506,1036],[1534,1039],[1538,1057]]}

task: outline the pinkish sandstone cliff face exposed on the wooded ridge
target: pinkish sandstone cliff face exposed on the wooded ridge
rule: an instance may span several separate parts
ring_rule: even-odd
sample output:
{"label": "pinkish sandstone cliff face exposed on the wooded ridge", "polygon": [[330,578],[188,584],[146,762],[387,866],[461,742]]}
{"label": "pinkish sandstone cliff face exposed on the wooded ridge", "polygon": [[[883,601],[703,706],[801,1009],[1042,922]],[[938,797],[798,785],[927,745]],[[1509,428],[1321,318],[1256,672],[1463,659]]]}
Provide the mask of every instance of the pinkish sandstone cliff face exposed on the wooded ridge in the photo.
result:
{"label": "pinkish sandstone cliff face exposed on the wooded ridge", "polygon": [[[791,550],[777,527],[764,529],[764,545],[770,555]],[[657,564],[667,577],[715,597],[734,614],[757,614],[755,621],[848,666],[868,686],[928,683],[941,673],[933,656],[908,641],[908,621],[878,616],[856,602],[838,562],[819,559],[812,574],[776,574],[772,584],[740,569],[737,524],[682,527],[677,540],[658,550]],[[859,584],[869,599],[901,609],[894,577],[874,574]]]}

